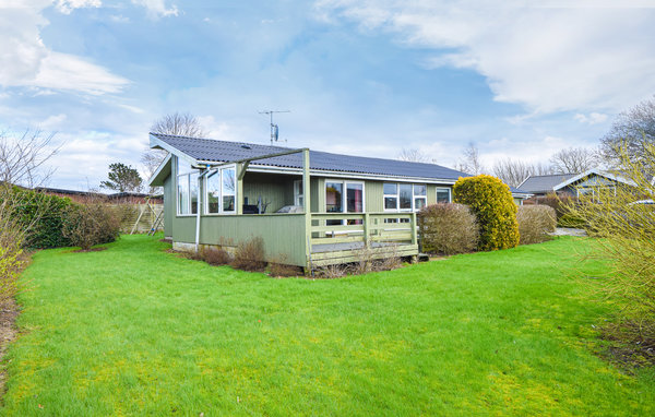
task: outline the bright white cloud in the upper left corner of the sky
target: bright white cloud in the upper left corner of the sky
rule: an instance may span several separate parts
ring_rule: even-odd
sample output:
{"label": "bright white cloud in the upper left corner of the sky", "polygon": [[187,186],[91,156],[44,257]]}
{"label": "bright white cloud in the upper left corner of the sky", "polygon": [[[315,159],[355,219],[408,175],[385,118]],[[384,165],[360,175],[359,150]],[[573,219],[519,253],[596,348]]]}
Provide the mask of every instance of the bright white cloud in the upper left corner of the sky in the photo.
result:
{"label": "bright white cloud in the upper left corner of the sky", "polygon": [[[96,1],[68,1],[66,8],[93,5]],[[99,2],[98,2],[99,3]],[[47,48],[40,29],[48,24],[41,12],[49,1],[31,7],[0,5],[0,85],[74,91],[87,94],[117,93],[128,80],[87,60]]]}

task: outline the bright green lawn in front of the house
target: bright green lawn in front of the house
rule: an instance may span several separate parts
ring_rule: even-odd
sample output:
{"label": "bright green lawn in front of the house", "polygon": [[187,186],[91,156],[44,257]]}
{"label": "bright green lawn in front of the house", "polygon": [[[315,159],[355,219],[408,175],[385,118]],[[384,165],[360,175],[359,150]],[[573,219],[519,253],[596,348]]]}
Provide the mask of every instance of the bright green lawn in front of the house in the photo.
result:
{"label": "bright green lawn in front of the house", "polygon": [[43,251],[2,413],[653,415],[654,372],[593,353],[607,306],[565,274],[586,245],[334,281],[212,267],[143,236]]}

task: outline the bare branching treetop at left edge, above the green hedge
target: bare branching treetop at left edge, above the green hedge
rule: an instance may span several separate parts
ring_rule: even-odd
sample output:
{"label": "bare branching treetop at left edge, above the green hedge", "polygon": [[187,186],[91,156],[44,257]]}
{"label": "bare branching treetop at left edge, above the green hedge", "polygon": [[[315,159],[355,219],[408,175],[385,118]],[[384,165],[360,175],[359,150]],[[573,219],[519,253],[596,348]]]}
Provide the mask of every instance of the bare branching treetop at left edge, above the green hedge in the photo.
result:
{"label": "bare branching treetop at left edge, above the green hedge", "polygon": [[25,130],[22,134],[0,132],[0,183],[28,188],[43,184],[51,175],[45,163],[59,151],[55,133]]}

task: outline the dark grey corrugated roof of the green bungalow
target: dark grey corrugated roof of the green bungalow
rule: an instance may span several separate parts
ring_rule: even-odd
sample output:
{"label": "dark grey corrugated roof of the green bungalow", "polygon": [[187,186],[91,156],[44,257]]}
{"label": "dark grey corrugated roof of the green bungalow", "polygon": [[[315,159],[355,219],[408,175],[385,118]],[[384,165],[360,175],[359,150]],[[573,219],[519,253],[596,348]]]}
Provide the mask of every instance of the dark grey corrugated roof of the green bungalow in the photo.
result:
{"label": "dark grey corrugated roof of the green bungalow", "polygon": [[[289,147],[259,145],[254,143],[193,139],[160,133],[151,134],[194,159],[207,162],[228,163],[291,150]],[[274,158],[258,159],[252,162],[252,164],[285,168],[302,168],[302,154],[298,153]],[[311,169],[318,170],[372,174],[393,177],[419,177],[449,180],[456,180],[460,177],[469,177],[468,174],[436,164],[338,155],[319,151],[310,151],[309,165]]]}

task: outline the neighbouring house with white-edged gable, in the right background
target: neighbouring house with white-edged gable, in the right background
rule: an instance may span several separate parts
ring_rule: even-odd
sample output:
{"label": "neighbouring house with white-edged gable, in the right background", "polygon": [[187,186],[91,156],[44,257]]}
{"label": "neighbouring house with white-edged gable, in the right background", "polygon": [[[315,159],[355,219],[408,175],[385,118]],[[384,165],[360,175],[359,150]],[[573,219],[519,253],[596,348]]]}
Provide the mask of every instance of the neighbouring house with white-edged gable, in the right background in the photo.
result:
{"label": "neighbouring house with white-edged gable, in the right background", "polygon": [[582,174],[556,174],[529,176],[519,188],[535,196],[556,193],[558,195],[580,196],[593,194],[600,189],[615,189],[619,184],[634,186],[619,172],[590,169]]}

